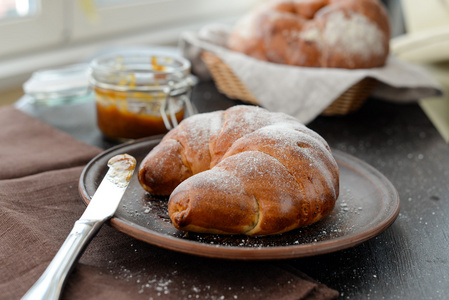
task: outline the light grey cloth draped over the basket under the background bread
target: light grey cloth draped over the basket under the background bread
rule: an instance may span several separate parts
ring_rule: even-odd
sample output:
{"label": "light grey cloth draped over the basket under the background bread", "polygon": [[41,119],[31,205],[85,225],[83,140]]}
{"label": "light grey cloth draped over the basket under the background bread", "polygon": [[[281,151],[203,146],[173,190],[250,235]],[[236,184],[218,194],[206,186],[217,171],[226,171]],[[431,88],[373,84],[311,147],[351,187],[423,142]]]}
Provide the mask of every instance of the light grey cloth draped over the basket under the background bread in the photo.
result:
{"label": "light grey cloth draped over the basket under the background bread", "polygon": [[185,32],[180,38],[183,55],[201,79],[210,78],[201,60],[202,51],[217,55],[231,68],[258,104],[271,111],[293,115],[307,124],[333,101],[364,78],[380,83],[374,97],[391,101],[416,101],[442,94],[440,85],[424,69],[392,56],[382,68],[346,70],[305,68],[260,61],[226,48],[231,28],[221,24]]}

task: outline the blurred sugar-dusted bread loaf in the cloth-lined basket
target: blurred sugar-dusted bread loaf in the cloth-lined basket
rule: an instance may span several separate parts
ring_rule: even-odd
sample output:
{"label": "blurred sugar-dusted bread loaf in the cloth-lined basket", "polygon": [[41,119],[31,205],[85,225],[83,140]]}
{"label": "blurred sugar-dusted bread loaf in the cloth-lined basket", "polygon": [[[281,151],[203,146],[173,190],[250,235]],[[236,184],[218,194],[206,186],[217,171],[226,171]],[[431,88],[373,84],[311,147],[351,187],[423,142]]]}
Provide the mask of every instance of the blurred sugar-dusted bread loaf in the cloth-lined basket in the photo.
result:
{"label": "blurred sugar-dusted bread loaf in the cloth-lined basket", "polygon": [[281,64],[360,69],[383,66],[389,40],[378,0],[271,0],[235,25],[228,48]]}

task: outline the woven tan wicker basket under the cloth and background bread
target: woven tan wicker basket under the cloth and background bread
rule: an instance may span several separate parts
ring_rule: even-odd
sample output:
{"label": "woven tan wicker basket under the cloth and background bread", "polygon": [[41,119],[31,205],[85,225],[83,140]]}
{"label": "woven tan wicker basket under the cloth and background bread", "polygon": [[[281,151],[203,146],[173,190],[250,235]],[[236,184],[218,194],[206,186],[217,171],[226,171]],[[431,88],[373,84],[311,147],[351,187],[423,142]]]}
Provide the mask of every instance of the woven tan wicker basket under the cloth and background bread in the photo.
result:
{"label": "woven tan wicker basket under the cloth and background bread", "polygon": [[[257,99],[251,94],[240,79],[214,53],[203,51],[202,60],[208,67],[217,89],[231,99],[258,105]],[[346,115],[358,110],[377,85],[377,80],[365,78],[338,97],[321,114],[326,116]]]}

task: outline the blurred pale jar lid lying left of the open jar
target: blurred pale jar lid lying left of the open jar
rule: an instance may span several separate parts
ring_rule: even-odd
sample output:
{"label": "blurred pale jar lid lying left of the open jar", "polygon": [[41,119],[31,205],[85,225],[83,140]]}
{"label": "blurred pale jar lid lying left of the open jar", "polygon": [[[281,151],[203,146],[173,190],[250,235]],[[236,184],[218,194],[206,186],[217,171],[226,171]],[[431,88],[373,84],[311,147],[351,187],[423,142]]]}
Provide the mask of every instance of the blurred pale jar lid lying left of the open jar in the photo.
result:
{"label": "blurred pale jar lid lying left of the open jar", "polygon": [[51,100],[85,95],[89,92],[89,64],[68,65],[34,72],[23,84],[24,92],[36,100]]}

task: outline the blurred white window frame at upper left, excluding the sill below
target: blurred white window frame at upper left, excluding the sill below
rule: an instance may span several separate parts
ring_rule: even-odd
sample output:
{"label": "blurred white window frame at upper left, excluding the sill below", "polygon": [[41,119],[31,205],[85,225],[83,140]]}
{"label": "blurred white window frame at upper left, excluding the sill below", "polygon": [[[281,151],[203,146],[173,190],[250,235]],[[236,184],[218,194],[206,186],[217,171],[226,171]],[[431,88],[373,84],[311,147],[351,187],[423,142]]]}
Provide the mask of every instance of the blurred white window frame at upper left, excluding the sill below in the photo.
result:
{"label": "blurred white window frame at upper left, excluding the sill below", "polygon": [[[257,1],[0,0],[0,60],[66,45],[164,30],[181,32],[237,17]],[[175,39],[166,37],[167,41]]]}

